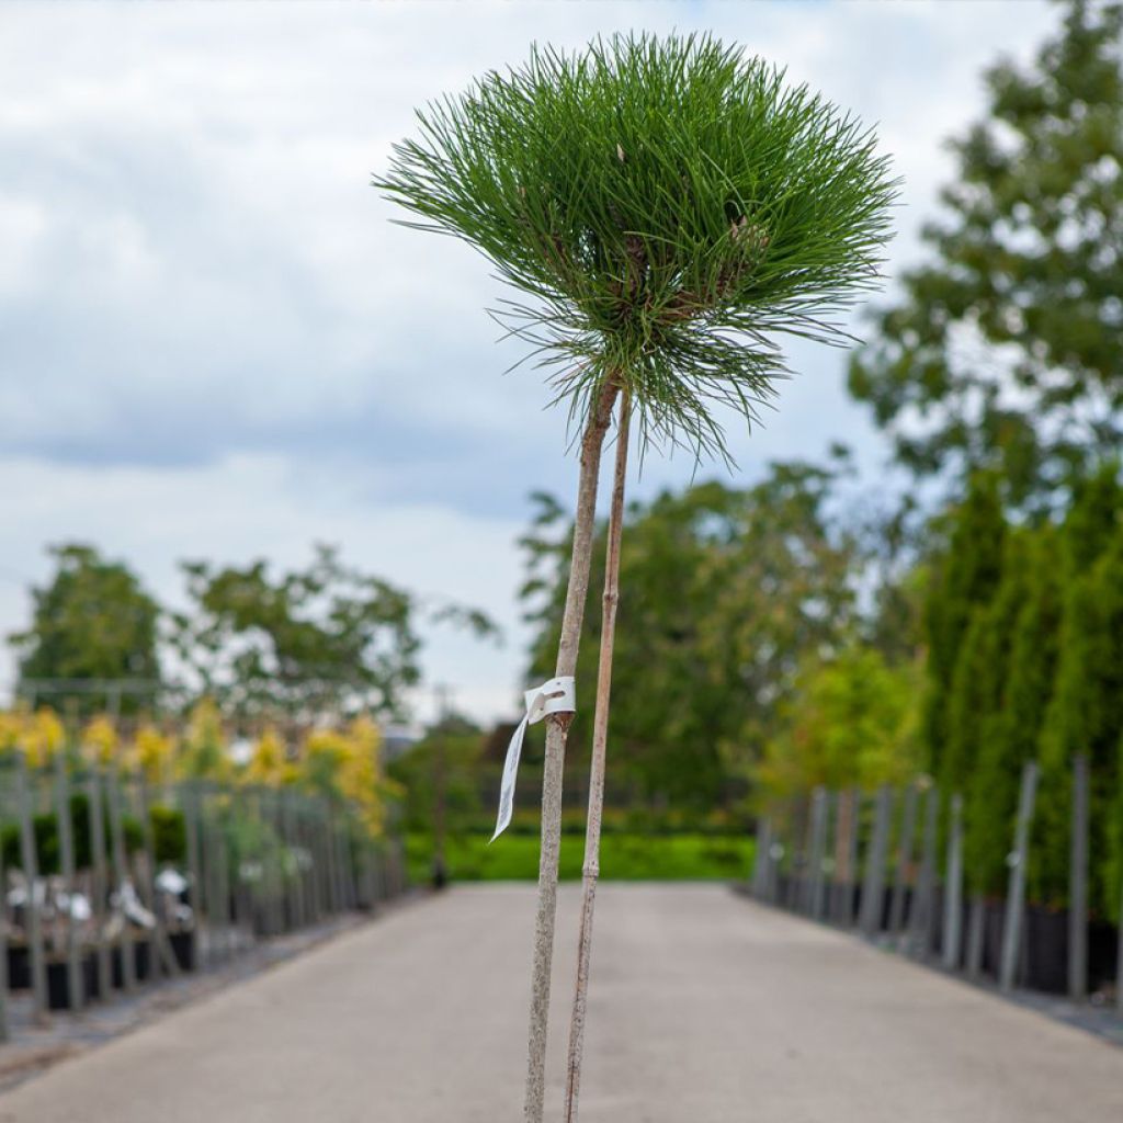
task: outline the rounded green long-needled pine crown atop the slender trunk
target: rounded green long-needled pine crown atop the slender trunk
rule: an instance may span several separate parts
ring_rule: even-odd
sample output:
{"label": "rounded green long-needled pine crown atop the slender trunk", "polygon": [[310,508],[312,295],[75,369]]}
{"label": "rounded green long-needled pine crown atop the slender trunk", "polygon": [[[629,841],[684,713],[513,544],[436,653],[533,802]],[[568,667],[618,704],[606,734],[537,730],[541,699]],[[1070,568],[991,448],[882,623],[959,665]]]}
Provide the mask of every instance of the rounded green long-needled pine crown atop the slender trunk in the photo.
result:
{"label": "rounded green long-needled pine crown atop the slender trunk", "polygon": [[407,225],[476,246],[532,298],[496,313],[584,418],[606,380],[648,437],[724,454],[785,373],[770,338],[844,338],[896,181],[873,134],[709,36],[532,48],[418,112],[375,180]]}

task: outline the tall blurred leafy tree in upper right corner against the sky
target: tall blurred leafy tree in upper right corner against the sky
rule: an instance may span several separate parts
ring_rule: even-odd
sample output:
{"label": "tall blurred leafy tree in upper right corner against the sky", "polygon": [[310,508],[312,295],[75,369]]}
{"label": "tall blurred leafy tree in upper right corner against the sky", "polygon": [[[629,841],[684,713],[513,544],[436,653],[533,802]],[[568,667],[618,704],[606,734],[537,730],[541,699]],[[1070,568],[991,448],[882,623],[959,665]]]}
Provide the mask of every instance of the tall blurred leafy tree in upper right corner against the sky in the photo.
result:
{"label": "tall blurred leafy tree in upper right corner against the sky", "polygon": [[996,467],[1015,502],[1123,439],[1123,7],[1067,7],[1033,66],[987,73],[931,259],[850,371],[905,465]]}

